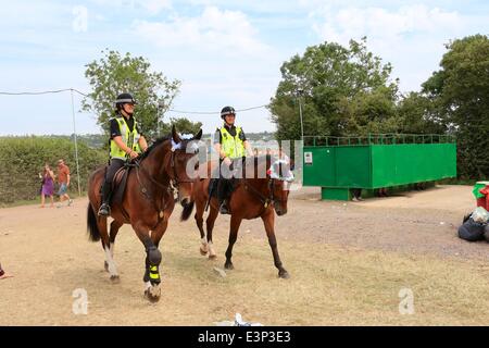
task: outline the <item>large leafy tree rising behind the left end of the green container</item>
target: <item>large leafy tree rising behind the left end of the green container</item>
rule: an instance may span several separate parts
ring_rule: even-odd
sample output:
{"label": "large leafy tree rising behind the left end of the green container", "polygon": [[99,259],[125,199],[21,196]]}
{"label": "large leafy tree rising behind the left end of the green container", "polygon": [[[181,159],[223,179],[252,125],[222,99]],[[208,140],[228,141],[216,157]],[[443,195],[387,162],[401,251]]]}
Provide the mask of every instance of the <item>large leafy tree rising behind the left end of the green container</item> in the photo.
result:
{"label": "large leafy tree rising behind the left end of the green container", "polygon": [[369,130],[393,130],[398,80],[392,66],[366,49],[366,38],[309,47],[281,67],[281,80],[269,110],[278,139],[299,139],[299,100],[304,135],[343,136]]}

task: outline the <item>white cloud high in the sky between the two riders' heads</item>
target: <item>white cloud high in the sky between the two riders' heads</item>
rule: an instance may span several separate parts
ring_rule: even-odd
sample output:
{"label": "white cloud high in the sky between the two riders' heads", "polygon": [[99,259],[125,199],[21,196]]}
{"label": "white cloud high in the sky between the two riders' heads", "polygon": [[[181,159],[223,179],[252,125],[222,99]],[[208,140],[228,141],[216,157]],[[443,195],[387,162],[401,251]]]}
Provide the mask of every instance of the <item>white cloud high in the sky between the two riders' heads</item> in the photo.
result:
{"label": "white cloud high in the sky between the two riders' heads", "polygon": [[239,11],[221,11],[208,7],[196,17],[176,16],[171,22],[135,21],[135,32],[162,47],[181,47],[214,54],[262,54],[267,46],[247,15]]}

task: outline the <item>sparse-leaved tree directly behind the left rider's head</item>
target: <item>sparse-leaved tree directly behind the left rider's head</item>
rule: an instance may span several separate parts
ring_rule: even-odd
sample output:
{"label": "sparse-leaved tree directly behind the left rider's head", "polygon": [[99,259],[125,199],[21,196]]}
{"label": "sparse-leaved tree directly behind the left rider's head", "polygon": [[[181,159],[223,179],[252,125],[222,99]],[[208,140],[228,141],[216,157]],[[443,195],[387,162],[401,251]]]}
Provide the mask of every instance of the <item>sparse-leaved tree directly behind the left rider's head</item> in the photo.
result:
{"label": "sparse-leaved tree directly behind the left rider's head", "polygon": [[97,123],[109,133],[109,119],[114,115],[114,101],[118,94],[128,91],[138,102],[136,116],[141,132],[149,138],[164,127],[161,121],[175,96],[180,82],[170,80],[163,73],[151,72],[142,57],[124,57],[117,51],[102,51],[104,57],[87,64],[85,76],[92,91],[82,102],[85,111],[98,115]]}

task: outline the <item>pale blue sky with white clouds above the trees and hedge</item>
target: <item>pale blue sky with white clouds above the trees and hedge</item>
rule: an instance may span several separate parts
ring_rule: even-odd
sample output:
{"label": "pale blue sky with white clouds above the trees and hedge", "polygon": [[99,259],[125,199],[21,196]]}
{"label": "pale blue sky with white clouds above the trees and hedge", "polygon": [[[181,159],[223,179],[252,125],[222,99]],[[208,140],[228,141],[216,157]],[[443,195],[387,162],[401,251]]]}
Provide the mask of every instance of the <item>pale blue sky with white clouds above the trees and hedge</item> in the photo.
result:
{"label": "pale blue sky with white clouds above the trees and hedge", "polygon": [[[0,91],[89,91],[86,64],[104,49],[145,57],[153,71],[181,80],[173,110],[220,126],[225,105],[269,102],[280,65],[309,46],[367,37],[367,49],[393,65],[402,92],[419,90],[452,39],[489,34],[481,0],[18,0],[0,7]],[[0,135],[100,134],[96,115],[70,92],[0,96]],[[274,132],[265,108],[237,113],[244,132]],[[304,115],[306,117],[306,115]]]}

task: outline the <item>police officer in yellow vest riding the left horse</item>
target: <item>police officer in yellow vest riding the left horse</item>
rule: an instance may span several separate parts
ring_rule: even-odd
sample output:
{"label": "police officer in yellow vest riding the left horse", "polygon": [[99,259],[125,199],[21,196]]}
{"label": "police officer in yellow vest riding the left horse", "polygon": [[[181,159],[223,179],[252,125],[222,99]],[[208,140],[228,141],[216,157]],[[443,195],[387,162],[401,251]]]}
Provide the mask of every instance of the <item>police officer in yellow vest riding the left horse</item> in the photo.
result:
{"label": "police officer in yellow vest riding the left horse", "polygon": [[141,151],[148,149],[148,144],[140,134],[138,123],[133,116],[135,105],[136,100],[130,94],[121,94],[115,100],[115,117],[110,121],[111,159],[102,187],[102,204],[99,209],[99,215],[111,214],[110,201],[115,173],[124,166],[126,161],[136,159]]}

